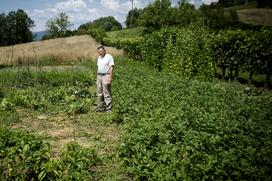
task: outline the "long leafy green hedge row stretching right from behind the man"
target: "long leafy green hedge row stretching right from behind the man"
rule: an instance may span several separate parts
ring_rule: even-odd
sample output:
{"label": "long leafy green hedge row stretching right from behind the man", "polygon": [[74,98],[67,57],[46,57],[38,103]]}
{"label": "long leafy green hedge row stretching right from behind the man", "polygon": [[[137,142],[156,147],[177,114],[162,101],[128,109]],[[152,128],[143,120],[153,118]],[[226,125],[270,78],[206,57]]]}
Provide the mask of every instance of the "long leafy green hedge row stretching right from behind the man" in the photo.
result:
{"label": "long leafy green hedge row stretching right from behind the man", "polygon": [[158,70],[183,77],[215,77],[217,68],[228,72],[231,80],[240,72],[272,73],[272,30],[222,30],[211,33],[205,28],[166,28],[134,40],[104,38],[107,46],[124,49],[126,55],[142,60]]}

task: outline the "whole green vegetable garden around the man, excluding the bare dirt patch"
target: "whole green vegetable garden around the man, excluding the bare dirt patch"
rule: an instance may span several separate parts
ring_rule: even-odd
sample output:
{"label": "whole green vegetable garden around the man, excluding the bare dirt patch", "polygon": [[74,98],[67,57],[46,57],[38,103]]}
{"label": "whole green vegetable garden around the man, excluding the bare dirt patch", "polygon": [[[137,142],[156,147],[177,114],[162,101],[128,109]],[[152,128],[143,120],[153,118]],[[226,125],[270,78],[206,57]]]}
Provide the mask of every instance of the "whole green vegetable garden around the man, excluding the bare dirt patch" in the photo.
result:
{"label": "whole green vegetable garden around the man, excluding the bare dirt patch", "polygon": [[[114,111],[99,114],[92,109],[95,70],[94,62],[63,71],[1,70],[1,179],[271,180],[270,91],[182,79],[120,57]],[[18,109],[117,124],[120,139],[111,154],[101,154],[74,135],[54,158],[50,136],[10,129],[23,121]],[[107,165],[113,168],[99,169]]]}

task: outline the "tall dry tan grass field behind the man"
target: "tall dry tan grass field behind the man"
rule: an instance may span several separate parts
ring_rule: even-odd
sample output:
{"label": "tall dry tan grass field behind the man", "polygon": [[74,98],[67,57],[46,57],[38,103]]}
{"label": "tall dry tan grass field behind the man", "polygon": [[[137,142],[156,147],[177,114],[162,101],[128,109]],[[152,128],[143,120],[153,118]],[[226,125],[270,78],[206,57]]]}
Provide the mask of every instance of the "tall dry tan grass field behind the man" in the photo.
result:
{"label": "tall dry tan grass field behind the man", "polygon": [[[43,62],[70,64],[82,59],[95,59],[99,44],[90,36],[73,36],[0,47],[0,65],[37,65]],[[113,56],[122,50],[106,47]]]}

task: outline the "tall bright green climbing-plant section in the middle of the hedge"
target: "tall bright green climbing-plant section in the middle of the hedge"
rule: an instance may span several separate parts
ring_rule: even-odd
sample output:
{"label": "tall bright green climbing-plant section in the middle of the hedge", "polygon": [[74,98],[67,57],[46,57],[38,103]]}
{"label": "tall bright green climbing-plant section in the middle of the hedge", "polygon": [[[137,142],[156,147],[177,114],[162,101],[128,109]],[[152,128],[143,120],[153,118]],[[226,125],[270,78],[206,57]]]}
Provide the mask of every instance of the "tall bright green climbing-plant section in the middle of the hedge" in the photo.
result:
{"label": "tall bright green climbing-plant section in the middle of the hedge", "polygon": [[197,27],[176,31],[167,41],[163,69],[181,77],[214,77],[211,37],[207,30]]}

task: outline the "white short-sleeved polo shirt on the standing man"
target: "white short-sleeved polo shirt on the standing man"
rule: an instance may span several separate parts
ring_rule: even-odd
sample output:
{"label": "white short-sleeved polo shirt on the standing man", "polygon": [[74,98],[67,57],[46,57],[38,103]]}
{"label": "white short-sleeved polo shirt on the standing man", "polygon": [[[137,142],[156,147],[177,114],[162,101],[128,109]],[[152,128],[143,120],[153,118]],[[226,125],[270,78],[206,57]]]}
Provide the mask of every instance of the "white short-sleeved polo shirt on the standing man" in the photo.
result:
{"label": "white short-sleeved polo shirt on the standing man", "polygon": [[100,74],[106,74],[109,72],[112,65],[114,65],[114,61],[113,57],[110,54],[105,54],[104,57],[99,56],[97,59],[97,72]]}

